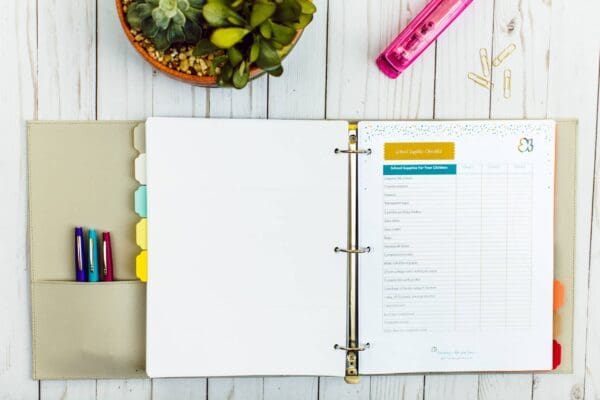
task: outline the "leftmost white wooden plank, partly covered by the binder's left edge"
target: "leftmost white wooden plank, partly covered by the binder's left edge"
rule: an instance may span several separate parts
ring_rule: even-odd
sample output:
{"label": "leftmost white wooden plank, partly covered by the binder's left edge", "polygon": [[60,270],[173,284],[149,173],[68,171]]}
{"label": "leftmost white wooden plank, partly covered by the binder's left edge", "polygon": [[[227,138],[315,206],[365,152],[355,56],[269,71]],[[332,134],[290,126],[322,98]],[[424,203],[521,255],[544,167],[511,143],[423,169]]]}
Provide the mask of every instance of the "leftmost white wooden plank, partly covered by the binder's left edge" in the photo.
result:
{"label": "leftmost white wooden plank, partly covered by the binder's left edge", "polygon": [[25,120],[36,117],[36,2],[0,3],[0,398],[37,399],[31,379]]}

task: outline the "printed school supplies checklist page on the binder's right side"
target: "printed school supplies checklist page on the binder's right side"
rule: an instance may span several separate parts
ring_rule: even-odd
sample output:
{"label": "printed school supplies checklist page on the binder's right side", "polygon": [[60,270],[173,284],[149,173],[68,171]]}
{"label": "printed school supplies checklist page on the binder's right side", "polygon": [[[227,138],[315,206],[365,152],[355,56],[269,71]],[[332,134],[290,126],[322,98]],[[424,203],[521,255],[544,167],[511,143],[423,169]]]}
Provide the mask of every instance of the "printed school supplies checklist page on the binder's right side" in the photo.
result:
{"label": "printed school supplies checklist page on the binder's right side", "polygon": [[360,373],[551,369],[555,123],[358,132]]}

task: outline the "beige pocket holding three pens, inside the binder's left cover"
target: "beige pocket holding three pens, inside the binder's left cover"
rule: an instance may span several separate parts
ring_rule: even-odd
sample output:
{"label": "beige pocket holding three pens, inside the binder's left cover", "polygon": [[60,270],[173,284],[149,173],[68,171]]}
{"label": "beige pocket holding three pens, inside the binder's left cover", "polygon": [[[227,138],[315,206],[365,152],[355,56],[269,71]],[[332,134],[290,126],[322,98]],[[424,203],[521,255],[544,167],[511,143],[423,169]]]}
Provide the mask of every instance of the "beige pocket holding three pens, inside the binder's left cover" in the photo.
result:
{"label": "beige pocket holding three pens, inside the binder's left cover", "polygon": [[32,283],[34,379],[142,378],[146,286]]}

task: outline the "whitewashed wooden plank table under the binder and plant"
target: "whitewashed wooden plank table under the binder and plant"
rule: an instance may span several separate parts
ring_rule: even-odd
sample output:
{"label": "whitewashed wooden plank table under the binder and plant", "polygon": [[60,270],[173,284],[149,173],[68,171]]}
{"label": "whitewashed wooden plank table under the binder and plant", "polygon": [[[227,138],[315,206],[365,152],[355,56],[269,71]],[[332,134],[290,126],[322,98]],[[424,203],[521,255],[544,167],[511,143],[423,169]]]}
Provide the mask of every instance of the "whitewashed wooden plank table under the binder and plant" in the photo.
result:
{"label": "whitewashed wooden plank table under the binder and plant", "polygon": [[[0,399],[600,398],[599,0],[475,0],[401,78],[379,51],[426,0],[316,0],[319,11],[281,78],[202,89],[144,64],[112,0],[0,1]],[[329,3],[329,4],[328,4]],[[513,93],[467,81],[479,49],[518,46]],[[574,372],[337,378],[31,380],[25,121],[160,116],[580,121]],[[600,153],[599,153],[600,160]],[[600,172],[600,171],[598,171]]]}

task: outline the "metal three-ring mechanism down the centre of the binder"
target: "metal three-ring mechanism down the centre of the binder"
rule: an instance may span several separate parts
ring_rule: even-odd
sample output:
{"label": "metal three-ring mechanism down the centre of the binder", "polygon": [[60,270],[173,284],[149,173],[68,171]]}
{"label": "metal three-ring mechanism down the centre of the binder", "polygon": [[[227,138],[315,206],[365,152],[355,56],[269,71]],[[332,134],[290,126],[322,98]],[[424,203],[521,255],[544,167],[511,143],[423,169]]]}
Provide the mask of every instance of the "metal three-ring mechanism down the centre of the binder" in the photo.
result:
{"label": "metal three-ring mechanism down the centre of the binder", "polygon": [[359,383],[358,376],[358,354],[368,349],[369,343],[360,344],[358,342],[358,256],[362,253],[371,251],[370,247],[360,247],[358,245],[357,229],[357,161],[359,155],[368,156],[371,149],[358,149],[356,131],[358,126],[350,124],[348,126],[349,138],[347,149],[335,149],[336,154],[348,155],[348,238],[345,248],[335,247],[336,253],[346,253],[348,259],[348,331],[346,345],[335,344],[336,350],[346,352],[346,376],[344,380],[347,383]]}

